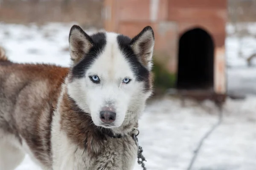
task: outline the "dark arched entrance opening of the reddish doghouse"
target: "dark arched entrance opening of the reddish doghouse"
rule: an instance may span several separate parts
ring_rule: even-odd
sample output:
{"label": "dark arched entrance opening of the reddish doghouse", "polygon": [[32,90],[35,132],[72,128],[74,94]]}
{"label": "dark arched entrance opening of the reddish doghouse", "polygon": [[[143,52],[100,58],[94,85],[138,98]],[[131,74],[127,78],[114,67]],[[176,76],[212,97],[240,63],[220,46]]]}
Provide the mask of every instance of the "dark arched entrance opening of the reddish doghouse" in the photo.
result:
{"label": "dark arched entrance opening of the reddish doghouse", "polygon": [[185,32],[179,41],[177,88],[213,88],[212,37],[204,30],[195,28]]}

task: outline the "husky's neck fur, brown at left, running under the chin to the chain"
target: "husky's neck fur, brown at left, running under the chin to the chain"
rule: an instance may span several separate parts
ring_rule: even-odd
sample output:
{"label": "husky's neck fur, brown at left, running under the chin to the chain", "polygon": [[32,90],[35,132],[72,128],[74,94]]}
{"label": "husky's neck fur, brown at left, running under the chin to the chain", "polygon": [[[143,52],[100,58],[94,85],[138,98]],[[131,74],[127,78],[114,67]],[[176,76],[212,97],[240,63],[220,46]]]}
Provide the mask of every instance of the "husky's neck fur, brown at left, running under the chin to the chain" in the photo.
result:
{"label": "husky's neck fur, brown at left, running under the chin to the chain", "polygon": [[71,142],[79,147],[86,147],[90,152],[97,152],[108,138],[121,138],[131,135],[137,123],[121,126],[115,129],[98,127],[93,124],[89,113],[81,111],[76,102],[64,92],[59,101],[58,112],[61,116],[61,129],[67,133]]}

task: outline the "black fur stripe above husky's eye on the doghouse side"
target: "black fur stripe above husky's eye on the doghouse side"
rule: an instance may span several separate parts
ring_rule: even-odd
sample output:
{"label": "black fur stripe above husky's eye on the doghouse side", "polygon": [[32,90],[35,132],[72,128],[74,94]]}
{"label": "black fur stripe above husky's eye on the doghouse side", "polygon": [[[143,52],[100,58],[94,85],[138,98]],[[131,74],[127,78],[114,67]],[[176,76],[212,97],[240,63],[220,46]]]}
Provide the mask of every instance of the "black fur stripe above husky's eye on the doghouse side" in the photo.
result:
{"label": "black fur stripe above husky's eye on the doghouse side", "polygon": [[117,42],[120,51],[122,51],[122,53],[125,56],[125,59],[127,59],[127,61],[130,63],[132,70],[136,75],[137,81],[145,82],[144,91],[149,91],[149,71],[142,65],[142,63],[140,63],[138,56],[134,53],[133,49],[131,48],[131,43],[133,41],[127,36],[118,35]]}

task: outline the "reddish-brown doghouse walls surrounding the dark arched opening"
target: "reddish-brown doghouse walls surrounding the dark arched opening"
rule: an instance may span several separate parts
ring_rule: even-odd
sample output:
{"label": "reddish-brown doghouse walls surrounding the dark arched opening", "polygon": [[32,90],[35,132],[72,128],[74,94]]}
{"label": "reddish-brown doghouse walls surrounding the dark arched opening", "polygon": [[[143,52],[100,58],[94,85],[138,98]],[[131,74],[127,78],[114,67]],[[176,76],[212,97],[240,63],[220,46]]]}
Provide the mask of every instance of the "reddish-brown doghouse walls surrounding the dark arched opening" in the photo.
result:
{"label": "reddish-brown doghouse walls surrounding the dark arched opening", "polygon": [[[154,4],[155,3],[155,4]],[[215,92],[225,92],[224,42],[227,21],[227,0],[105,0],[108,14],[107,31],[116,31],[130,37],[145,26],[155,33],[156,59],[170,73],[177,72],[177,51],[180,36],[193,28],[202,28],[215,44]]]}

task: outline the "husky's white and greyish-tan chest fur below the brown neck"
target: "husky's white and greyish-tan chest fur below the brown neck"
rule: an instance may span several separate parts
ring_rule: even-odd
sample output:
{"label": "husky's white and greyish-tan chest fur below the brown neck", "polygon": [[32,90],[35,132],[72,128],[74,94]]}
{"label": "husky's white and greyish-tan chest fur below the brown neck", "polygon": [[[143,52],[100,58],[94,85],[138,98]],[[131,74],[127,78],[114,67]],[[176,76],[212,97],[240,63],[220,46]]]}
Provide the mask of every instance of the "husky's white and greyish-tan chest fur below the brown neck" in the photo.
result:
{"label": "husky's white and greyish-tan chest fur below the brown neck", "polygon": [[70,142],[63,131],[52,138],[53,170],[132,170],[137,146],[131,136],[109,138],[96,153]]}

